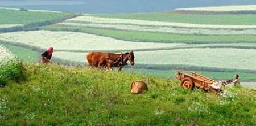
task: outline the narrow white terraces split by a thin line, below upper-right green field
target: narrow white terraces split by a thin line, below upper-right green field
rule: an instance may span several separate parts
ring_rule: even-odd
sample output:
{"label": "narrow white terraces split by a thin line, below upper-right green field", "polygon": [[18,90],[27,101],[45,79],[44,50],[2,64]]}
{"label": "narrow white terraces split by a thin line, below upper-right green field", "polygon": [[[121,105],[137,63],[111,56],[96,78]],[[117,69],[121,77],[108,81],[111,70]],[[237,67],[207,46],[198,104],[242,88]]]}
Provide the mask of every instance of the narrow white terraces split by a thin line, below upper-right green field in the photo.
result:
{"label": "narrow white terraces split by a thin line, below upper-right green field", "polygon": [[256,34],[256,25],[187,24],[163,21],[98,18],[93,16],[79,16],[77,18],[68,19],[59,25],[192,35]]}

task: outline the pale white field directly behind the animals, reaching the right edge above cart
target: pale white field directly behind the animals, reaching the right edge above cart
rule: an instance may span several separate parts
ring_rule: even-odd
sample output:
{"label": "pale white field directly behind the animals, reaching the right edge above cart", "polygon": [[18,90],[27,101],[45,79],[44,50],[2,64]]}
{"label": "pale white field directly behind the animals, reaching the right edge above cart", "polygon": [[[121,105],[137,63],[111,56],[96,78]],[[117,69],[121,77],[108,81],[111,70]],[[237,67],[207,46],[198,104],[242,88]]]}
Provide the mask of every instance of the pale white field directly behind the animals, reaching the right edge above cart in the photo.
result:
{"label": "pale white field directly behind the animals, reaching the right edge above cart", "polygon": [[[55,52],[55,57],[87,63],[88,53]],[[63,57],[65,55],[66,57]],[[134,52],[135,64],[184,64],[201,67],[256,70],[254,49],[176,49]]]}

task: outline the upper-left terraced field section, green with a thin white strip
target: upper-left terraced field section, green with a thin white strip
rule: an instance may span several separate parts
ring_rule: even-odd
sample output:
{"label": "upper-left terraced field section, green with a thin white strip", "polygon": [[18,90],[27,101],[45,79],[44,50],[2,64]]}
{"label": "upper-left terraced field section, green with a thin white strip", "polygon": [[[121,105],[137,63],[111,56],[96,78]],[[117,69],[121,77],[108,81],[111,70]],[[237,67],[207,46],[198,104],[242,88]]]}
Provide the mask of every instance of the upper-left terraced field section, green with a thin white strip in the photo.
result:
{"label": "upper-left terraced field section, green with a thin white strip", "polygon": [[73,18],[76,14],[54,11],[0,8],[0,33],[39,29],[59,21]]}

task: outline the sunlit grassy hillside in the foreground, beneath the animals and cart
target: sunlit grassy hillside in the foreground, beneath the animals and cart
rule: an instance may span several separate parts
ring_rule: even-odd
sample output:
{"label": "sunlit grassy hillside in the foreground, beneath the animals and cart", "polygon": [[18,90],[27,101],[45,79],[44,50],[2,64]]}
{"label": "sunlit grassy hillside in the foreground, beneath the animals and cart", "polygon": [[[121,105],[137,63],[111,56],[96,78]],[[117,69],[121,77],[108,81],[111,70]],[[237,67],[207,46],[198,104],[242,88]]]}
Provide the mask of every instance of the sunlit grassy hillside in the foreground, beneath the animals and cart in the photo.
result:
{"label": "sunlit grassy hillside in the foreground, beneath the animals and cart", "polygon": [[[26,81],[0,88],[2,125],[255,125],[256,92],[214,95],[129,72],[24,64]],[[148,92],[130,94],[145,81]]]}

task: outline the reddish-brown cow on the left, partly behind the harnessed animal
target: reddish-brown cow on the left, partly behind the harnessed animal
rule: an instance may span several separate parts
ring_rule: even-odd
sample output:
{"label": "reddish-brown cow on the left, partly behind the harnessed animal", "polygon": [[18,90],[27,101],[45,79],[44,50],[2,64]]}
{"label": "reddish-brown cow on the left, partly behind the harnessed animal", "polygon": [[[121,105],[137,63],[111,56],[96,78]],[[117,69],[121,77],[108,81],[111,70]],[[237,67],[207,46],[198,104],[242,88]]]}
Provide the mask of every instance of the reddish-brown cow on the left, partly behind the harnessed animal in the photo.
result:
{"label": "reddish-brown cow on the left, partly behind the harnessed animal", "polygon": [[111,68],[113,64],[117,63],[110,59],[109,53],[99,51],[92,51],[87,55],[87,60],[91,68],[98,67],[98,69],[108,67]]}

